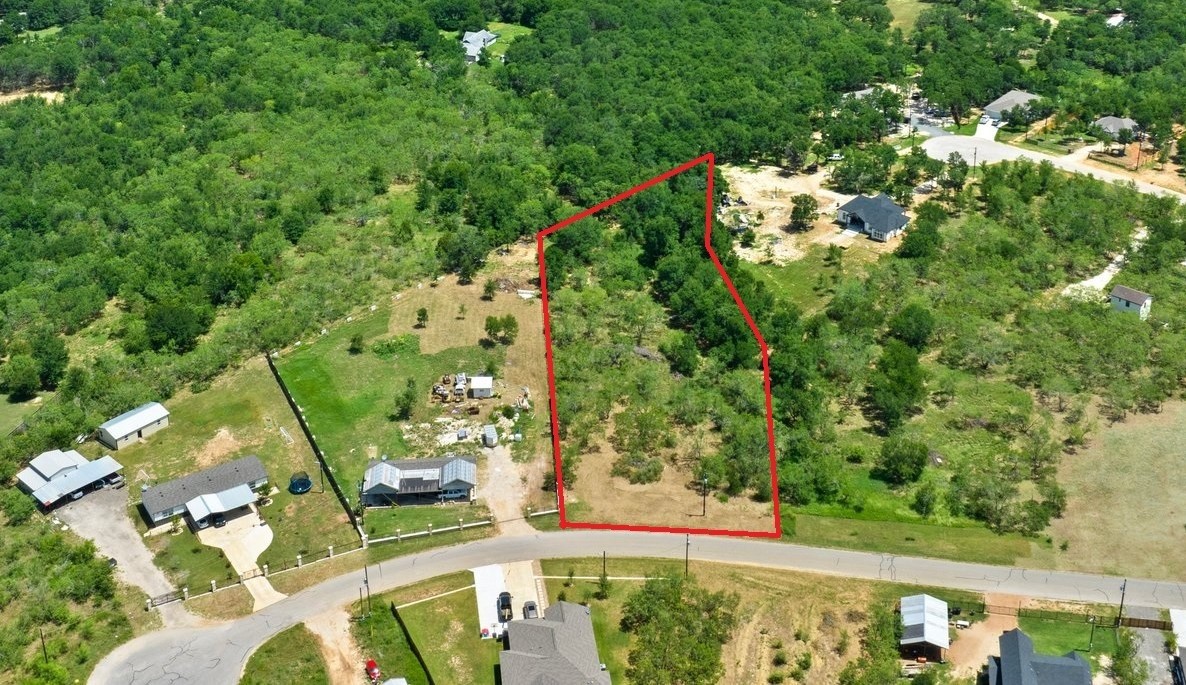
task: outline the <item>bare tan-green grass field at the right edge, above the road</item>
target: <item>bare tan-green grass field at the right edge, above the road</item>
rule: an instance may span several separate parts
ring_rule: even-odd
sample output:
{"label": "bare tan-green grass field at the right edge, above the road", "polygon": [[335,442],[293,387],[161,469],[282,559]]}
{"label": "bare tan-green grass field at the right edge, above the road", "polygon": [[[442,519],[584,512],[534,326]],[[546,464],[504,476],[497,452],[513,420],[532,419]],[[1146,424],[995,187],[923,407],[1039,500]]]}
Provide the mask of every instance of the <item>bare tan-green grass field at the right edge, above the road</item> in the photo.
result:
{"label": "bare tan-green grass field at the right edge, above the road", "polygon": [[1053,521],[1067,550],[1060,569],[1180,578],[1186,569],[1186,402],[1101,427],[1086,449],[1064,455],[1058,480],[1067,506]]}

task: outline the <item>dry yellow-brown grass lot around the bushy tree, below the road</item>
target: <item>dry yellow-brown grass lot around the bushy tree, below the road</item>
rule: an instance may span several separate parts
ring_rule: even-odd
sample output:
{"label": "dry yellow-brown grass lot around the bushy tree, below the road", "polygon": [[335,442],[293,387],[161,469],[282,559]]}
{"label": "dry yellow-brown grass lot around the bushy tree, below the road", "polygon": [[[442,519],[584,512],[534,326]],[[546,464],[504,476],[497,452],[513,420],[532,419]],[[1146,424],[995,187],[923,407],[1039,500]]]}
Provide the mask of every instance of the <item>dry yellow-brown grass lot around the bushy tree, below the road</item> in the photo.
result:
{"label": "dry yellow-brown grass lot around the bushy tree, below the road", "polygon": [[[610,598],[593,598],[597,581],[574,582],[565,587],[568,571],[576,576],[597,576],[601,559],[551,559],[542,562],[548,597],[555,602],[560,593],[570,602],[588,601],[598,651],[608,666],[614,683],[625,681],[631,635],[619,628],[623,604],[642,581],[612,581]],[[874,583],[793,574],[751,566],[691,562],[691,575],[709,590],[737,593],[734,609],[738,627],[725,645],[722,660],[725,678],[721,683],[766,683],[780,672],[786,676],[790,666],[776,667],[779,651],[795,664],[804,652],[811,653],[811,667],[805,683],[836,683],[844,665],[860,655],[860,632],[868,622],[875,603],[892,607],[904,595],[926,591],[952,606],[980,603],[973,593],[914,588],[894,583]],[[643,577],[683,572],[683,563],[656,559],[610,559],[611,577]],[[772,680],[771,680],[772,681]],[[790,680],[788,680],[790,681]]]}

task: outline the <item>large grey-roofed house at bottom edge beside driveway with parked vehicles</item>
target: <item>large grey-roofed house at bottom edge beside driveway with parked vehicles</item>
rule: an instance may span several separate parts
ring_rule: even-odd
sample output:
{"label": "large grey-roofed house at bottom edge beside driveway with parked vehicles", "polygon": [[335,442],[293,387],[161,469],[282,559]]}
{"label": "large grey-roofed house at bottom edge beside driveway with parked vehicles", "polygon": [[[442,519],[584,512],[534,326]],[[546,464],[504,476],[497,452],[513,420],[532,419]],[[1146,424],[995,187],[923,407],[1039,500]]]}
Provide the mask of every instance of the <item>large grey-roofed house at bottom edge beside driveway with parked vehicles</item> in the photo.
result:
{"label": "large grey-roofed house at bottom edge beside driveway with parked vehicles", "polygon": [[597,653],[589,608],[556,602],[542,619],[506,625],[506,649],[498,657],[503,685],[581,683],[610,685]]}

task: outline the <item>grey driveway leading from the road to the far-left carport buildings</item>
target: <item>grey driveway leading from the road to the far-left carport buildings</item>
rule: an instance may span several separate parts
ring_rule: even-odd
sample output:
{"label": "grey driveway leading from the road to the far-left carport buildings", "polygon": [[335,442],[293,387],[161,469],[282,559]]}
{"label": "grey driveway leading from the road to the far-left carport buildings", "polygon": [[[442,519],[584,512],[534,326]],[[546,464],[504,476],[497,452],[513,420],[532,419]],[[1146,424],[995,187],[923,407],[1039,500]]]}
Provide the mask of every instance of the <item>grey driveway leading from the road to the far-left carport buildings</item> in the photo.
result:
{"label": "grey driveway leading from the road to the far-left carport buildings", "polygon": [[[121,582],[140,588],[149,597],[172,593],[177,588],[153,563],[127,505],[128,491],[109,487],[63,505],[53,516],[94,542],[100,556],[115,559],[115,577]],[[161,607],[161,620],[168,627],[197,625],[180,602]]]}

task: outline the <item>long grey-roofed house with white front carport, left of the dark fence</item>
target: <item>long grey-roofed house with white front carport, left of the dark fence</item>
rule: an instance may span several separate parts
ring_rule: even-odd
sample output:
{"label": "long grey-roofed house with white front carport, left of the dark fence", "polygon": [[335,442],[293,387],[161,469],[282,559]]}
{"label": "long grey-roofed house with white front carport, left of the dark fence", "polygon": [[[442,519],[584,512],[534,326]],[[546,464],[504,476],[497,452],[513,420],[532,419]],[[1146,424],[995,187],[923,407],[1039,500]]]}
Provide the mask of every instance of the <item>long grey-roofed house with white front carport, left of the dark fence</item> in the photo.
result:
{"label": "long grey-roofed house with white front carport, left of the dark fence", "polygon": [[140,506],[154,524],[189,514],[193,525],[205,527],[211,516],[254,502],[255,491],[267,484],[263,463],[250,455],[149,487],[141,493]]}

